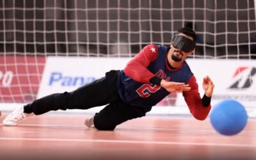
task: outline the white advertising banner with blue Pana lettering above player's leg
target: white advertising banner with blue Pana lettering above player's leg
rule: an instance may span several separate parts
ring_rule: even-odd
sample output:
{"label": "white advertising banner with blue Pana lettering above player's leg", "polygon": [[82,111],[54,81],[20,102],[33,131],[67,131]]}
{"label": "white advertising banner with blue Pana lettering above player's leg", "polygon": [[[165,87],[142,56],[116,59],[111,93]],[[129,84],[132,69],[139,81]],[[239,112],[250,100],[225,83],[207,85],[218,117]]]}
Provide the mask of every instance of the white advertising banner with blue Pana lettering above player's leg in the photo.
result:
{"label": "white advertising banner with blue Pana lettering above player's leg", "polygon": [[123,69],[128,58],[48,57],[37,98],[74,91],[97,80],[111,69]]}

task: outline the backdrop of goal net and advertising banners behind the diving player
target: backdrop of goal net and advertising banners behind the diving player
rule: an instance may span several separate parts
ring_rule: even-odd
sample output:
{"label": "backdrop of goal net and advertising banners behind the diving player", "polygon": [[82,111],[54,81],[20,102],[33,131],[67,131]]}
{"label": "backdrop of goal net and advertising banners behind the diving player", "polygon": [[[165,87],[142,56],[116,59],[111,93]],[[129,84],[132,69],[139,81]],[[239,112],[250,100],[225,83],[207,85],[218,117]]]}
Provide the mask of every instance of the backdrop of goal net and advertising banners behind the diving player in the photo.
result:
{"label": "backdrop of goal net and advertising banners behind the diving player", "polygon": [[[200,93],[209,75],[216,85],[213,105],[236,99],[256,116],[253,0],[3,0],[0,6],[2,111],[122,69],[145,45],[168,46],[186,26],[198,34],[188,63]],[[150,113],[189,115],[189,110],[180,94],[170,94]]]}

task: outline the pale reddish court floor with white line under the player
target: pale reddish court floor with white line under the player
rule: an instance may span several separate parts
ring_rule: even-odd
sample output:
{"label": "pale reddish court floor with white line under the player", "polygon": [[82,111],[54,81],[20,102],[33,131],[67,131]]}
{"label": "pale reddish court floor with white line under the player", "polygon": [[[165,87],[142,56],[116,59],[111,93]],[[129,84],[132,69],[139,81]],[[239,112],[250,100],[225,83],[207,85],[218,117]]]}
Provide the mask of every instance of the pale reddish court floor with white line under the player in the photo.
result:
{"label": "pale reddish court floor with white line under the player", "polygon": [[115,131],[88,129],[86,117],[46,114],[17,127],[0,124],[0,159],[256,159],[255,119],[242,133],[223,136],[209,120],[190,117],[143,117]]}

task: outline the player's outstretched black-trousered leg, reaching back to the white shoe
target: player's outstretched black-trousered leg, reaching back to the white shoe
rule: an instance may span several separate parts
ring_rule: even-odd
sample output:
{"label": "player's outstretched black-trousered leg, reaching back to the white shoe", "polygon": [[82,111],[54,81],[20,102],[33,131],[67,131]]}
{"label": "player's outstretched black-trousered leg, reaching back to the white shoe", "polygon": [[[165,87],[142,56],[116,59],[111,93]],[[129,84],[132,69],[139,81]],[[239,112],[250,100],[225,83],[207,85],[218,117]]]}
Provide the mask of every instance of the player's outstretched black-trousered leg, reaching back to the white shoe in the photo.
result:
{"label": "player's outstretched black-trousered leg, reaching back to the white shoe", "polygon": [[25,113],[40,115],[51,110],[88,109],[118,99],[118,71],[109,71],[104,78],[79,87],[73,92],[51,94],[24,106]]}

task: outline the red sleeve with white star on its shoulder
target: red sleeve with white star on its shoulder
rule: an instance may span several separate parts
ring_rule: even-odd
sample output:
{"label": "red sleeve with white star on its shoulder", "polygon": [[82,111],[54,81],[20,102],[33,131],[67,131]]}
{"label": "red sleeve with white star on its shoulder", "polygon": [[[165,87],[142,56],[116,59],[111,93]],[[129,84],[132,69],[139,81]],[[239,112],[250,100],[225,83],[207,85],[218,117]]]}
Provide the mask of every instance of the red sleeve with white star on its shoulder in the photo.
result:
{"label": "red sleeve with white star on its shoulder", "polygon": [[150,84],[149,79],[154,76],[147,67],[156,60],[158,50],[156,45],[147,45],[124,68],[124,73],[137,82]]}

